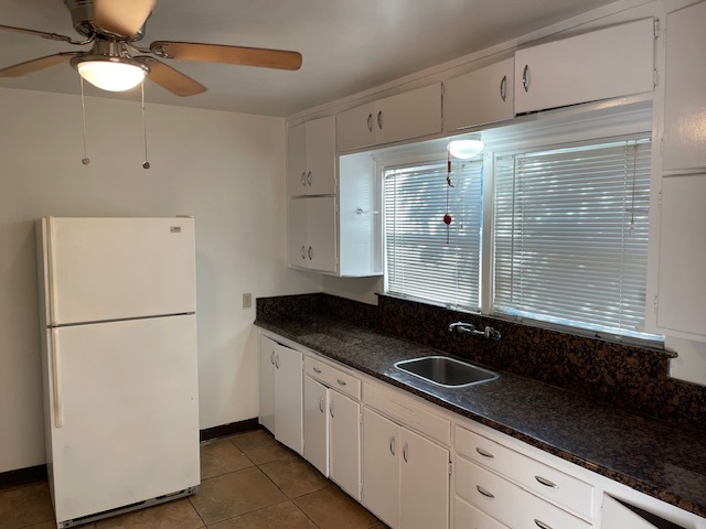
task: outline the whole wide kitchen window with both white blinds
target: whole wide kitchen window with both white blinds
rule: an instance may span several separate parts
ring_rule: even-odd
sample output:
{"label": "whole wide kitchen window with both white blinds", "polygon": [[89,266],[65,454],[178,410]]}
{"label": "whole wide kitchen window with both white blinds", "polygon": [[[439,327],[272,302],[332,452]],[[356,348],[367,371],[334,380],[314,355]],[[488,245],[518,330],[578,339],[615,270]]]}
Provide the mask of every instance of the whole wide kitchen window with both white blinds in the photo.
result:
{"label": "whole wide kitchen window with both white blinds", "polygon": [[453,162],[453,187],[445,160],[386,168],[386,292],[580,334],[661,338],[643,334],[650,143],[495,144]]}

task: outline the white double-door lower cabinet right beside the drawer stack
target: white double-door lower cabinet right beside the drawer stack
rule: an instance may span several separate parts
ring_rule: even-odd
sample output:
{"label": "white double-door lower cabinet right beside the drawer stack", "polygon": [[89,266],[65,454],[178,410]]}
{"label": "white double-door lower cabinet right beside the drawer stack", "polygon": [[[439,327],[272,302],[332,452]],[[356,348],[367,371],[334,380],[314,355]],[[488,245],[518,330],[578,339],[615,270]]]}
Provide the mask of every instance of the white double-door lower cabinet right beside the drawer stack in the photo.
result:
{"label": "white double-door lower cabinet right beside the drawer stack", "polygon": [[363,498],[393,529],[448,527],[449,451],[365,408]]}

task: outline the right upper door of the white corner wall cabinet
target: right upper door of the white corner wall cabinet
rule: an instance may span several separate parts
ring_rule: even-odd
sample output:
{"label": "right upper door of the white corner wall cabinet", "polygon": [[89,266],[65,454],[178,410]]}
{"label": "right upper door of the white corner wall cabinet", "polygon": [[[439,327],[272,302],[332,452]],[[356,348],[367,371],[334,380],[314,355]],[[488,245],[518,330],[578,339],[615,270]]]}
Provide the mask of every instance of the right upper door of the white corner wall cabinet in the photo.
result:
{"label": "right upper door of the white corner wall cabinet", "polygon": [[335,117],[304,123],[307,151],[307,194],[335,193]]}

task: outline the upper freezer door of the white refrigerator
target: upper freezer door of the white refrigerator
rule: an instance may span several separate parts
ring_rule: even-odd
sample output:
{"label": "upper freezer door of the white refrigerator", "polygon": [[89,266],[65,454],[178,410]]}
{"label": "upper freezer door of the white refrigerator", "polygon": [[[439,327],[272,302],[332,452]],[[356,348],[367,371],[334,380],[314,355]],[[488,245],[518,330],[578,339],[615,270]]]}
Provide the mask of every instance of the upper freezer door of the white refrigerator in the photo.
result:
{"label": "upper freezer door of the white refrigerator", "polygon": [[196,310],[193,218],[41,220],[49,325]]}

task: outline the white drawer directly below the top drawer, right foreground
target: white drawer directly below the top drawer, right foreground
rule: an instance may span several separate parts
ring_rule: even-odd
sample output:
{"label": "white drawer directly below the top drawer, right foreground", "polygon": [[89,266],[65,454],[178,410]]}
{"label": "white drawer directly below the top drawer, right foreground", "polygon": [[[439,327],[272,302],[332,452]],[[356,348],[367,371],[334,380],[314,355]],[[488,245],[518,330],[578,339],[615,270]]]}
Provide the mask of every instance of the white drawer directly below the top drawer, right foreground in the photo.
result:
{"label": "white drawer directly below the top drawer, right foreground", "polygon": [[592,527],[463,457],[456,467],[456,494],[513,529]]}

